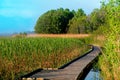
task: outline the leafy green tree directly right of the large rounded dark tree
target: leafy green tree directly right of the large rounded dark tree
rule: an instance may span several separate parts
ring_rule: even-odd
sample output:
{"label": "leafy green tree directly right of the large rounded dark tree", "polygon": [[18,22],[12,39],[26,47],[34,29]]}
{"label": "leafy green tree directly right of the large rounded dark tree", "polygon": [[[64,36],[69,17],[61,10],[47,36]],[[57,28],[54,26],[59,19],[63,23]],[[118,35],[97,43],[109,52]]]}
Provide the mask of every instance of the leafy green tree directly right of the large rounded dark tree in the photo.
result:
{"label": "leafy green tree directly right of the large rounded dark tree", "polygon": [[[74,11],[73,11],[74,12]],[[82,9],[78,9],[77,12],[74,12],[74,18],[69,21],[69,30],[68,33],[85,33],[85,19],[86,14]]]}

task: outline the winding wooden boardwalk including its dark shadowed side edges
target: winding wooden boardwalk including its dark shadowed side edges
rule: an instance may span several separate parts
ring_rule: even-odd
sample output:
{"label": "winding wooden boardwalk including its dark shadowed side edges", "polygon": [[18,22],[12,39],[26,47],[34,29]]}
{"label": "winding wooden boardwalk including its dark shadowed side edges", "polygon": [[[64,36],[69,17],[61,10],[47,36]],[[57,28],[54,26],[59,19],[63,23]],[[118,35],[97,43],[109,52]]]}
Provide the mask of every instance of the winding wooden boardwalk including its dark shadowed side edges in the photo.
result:
{"label": "winding wooden boardwalk including its dark shadowed side edges", "polygon": [[22,80],[84,80],[92,65],[96,62],[100,48],[92,46],[92,49],[85,55],[61,66],[60,68],[38,69],[25,76]]}

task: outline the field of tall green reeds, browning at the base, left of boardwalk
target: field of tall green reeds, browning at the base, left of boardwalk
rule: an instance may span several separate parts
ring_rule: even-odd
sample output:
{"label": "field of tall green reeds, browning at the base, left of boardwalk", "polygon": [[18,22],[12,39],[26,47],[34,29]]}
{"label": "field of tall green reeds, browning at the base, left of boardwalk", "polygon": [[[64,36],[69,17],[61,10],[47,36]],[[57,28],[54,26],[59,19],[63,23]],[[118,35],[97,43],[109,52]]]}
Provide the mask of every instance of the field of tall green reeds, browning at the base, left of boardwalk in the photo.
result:
{"label": "field of tall green reeds, browning at the base, left of boardwalk", "polygon": [[89,50],[89,39],[74,38],[1,38],[0,80],[38,68],[56,68]]}

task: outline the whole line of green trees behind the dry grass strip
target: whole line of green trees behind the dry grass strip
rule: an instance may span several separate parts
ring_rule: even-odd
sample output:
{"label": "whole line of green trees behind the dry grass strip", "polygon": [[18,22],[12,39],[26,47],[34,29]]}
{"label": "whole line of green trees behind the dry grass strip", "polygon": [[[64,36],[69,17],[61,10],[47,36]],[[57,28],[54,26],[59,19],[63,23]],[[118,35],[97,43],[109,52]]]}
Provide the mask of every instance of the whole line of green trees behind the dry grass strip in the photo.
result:
{"label": "whole line of green trees behind the dry grass strip", "polygon": [[39,17],[34,27],[36,33],[92,33],[107,24],[107,10],[104,2],[100,9],[94,9],[89,15],[84,10],[49,10]]}

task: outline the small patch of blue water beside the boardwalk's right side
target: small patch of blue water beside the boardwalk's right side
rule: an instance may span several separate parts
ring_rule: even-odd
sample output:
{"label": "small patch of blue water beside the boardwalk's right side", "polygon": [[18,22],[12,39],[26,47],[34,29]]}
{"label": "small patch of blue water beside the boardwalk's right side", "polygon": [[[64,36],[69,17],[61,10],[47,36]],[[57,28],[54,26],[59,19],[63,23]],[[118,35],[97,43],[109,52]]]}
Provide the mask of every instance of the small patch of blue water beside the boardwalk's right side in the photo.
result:
{"label": "small patch of blue water beside the boardwalk's right side", "polygon": [[103,80],[98,69],[91,69],[85,80]]}

